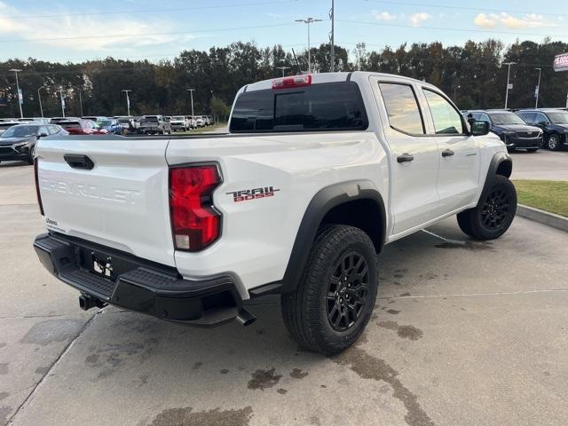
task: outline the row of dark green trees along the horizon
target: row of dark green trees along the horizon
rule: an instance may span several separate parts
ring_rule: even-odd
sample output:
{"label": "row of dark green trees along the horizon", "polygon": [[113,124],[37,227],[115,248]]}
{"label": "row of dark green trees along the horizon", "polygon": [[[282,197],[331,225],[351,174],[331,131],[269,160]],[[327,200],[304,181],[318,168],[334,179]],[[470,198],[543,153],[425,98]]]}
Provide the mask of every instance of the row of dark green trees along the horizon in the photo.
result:
{"label": "row of dark green trees along the horizon", "polygon": [[[495,108],[504,105],[507,67],[511,68],[510,107],[533,106],[538,71],[542,68],[540,106],[564,106],[568,74],[555,73],[554,56],[568,51],[568,43],[517,42],[509,46],[489,39],[463,46],[442,43],[402,44],[383,51],[369,50],[359,43],[351,52],[335,46],[335,69],[342,71],[380,71],[406,75],[433,83],[453,97],[458,106]],[[325,72],[330,66],[329,45],[312,48],[312,69]],[[350,55],[351,53],[351,55]],[[59,91],[66,99],[68,115],[126,114],[122,89],[130,89],[132,114],[189,114],[193,92],[195,114],[228,114],[234,94],[247,83],[281,75],[277,67],[288,66],[288,73],[307,69],[307,51],[296,57],[282,46],[259,48],[255,43],[232,43],[209,51],[182,51],[172,60],[107,58],[83,63],[46,62],[36,59],[10,59],[0,62],[0,92],[8,105],[0,106],[0,116],[19,116],[16,83],[9,70],[20,68],[20,88],[24,93],[25,116],[40,114],[38,89],[46,116],[61,114]]]}

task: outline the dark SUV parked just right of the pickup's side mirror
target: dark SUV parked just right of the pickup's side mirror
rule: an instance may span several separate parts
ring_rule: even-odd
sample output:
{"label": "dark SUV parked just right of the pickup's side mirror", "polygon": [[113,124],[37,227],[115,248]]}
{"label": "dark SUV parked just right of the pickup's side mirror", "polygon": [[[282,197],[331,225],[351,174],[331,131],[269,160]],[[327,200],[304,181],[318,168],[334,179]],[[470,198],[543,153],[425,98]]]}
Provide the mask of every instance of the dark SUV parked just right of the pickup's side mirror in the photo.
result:
{"label": "dark SUV parked just right of the pickup's side mirror", "polygon": [[488,122],[491,131],[495,133],[509,151],[525,149],[529,153],[536,152],[542,146],[542,130],[529,126],[517,114],[505,110],[467,111],[468,120]]}

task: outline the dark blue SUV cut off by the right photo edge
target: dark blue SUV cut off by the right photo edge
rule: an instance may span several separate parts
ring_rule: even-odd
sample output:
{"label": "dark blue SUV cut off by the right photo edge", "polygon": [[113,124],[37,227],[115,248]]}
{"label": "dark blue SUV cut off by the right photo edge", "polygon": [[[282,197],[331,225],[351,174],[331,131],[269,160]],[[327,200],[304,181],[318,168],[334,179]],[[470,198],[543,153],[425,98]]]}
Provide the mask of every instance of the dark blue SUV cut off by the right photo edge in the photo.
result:
{"label": "dark blue SUV cut off by the right photo edge", "polygon": [[568,112],[561,109],[523,109],[517,115],[544,131],[544,147],[552,151],[568,147]]}

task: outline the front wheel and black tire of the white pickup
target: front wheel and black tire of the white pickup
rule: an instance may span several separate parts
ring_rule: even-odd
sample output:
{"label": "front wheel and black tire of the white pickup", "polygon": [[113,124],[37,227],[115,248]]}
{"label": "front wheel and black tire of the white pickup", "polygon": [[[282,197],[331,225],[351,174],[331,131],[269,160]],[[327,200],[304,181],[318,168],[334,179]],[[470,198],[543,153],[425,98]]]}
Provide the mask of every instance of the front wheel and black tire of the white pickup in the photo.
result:
{"label": "front wheel and black tire of the white pickup", "polygon": [[494,240],[506,233],[517,213],[517,190],[504,176],[496,175],[477,207],[457,215],[461,231],[476,240]]}

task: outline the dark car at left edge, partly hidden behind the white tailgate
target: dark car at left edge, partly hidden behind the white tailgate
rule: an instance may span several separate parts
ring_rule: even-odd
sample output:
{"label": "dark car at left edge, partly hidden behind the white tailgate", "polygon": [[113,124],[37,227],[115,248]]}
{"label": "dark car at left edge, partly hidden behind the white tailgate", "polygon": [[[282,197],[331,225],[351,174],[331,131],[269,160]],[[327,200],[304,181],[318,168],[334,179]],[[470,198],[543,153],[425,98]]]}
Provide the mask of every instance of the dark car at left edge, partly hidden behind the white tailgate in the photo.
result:
{"label": "dark car at left edge, partly hidden behind the white tailgate", "polygon": [[51,135],[68,135],[56,124],[25,123],[12,126],[0,136],[0,161],[23,160],[34,163],[36,142]]}

